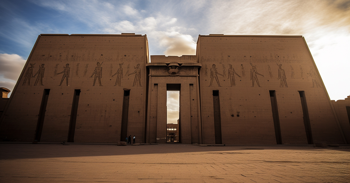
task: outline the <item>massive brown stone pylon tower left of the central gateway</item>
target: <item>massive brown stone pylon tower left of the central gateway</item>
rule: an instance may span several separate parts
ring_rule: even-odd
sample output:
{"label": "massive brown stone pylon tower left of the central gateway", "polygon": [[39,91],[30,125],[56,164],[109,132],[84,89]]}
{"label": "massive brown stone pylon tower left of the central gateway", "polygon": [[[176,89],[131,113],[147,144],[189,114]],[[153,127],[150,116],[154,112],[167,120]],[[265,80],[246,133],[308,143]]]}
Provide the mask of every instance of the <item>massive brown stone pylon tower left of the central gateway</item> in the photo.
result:
{"label": "massive brown stone pylon tower left of the central gateway", "polygon": [[147,62],[146,35],[39,36],[3,116],[1,138],[59,142],[74,131],[75,142],[117,142],[128,99],[124,133],[142,142]]}

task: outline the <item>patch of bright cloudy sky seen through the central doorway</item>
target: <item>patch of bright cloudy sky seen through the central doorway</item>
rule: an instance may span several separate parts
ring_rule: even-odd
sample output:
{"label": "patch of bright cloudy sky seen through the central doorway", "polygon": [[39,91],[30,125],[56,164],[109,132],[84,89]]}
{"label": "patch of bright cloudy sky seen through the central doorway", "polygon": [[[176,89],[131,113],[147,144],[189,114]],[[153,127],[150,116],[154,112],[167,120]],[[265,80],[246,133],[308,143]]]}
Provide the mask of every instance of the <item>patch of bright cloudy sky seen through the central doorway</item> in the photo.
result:
{"label": "patch of bright cloudy sky seen through the central doorway", "polygon": [[177,124],[180,112],[180,91],[167,91],[167,123]]}

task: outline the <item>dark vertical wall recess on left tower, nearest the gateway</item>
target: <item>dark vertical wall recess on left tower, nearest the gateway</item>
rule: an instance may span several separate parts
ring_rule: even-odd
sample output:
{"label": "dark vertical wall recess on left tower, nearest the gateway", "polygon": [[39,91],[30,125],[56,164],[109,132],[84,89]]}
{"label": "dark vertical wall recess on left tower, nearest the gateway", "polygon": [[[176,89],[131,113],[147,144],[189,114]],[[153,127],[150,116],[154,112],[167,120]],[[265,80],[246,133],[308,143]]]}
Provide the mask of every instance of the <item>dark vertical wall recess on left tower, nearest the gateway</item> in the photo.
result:
{"label": "dark vertical wall recess on left tower, nearest the gateway", "polygon": [[121,130],[120,130],[120,141],[124,142],[127,137],[128,130],[128,115],[129,115],[129,98],[130,90],[124,90],[123,97],[123,112],[121,114]]}

